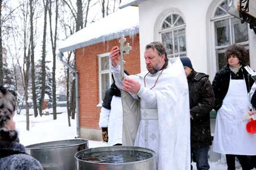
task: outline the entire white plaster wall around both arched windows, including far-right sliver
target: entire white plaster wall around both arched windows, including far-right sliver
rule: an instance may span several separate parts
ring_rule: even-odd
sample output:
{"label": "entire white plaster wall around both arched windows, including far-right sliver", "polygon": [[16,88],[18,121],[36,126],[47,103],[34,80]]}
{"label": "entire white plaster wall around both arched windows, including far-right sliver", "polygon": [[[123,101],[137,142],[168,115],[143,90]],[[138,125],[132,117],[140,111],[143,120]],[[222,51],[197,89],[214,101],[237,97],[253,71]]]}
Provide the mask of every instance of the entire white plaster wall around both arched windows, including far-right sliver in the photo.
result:
{"label": "entire white plaster wall around both arched windows, including far-right sliver", "polygon": [[[209,9],[216,0],[147,0],[139,4],[139,34],[141,49],[141,71],[146,71],[144,47],[146,44],[160,40],[155,36],[158,32],[155,26],[163,11],[174,9],[180,11],[186,24],[187,56],[191,59],[193,68],[214,78],[216,63],[214,61],[213,40],[211,34]],[[256,36],[249,30],[251,67],[256,69]],[[214,65],[215,64],[215,65]]]}

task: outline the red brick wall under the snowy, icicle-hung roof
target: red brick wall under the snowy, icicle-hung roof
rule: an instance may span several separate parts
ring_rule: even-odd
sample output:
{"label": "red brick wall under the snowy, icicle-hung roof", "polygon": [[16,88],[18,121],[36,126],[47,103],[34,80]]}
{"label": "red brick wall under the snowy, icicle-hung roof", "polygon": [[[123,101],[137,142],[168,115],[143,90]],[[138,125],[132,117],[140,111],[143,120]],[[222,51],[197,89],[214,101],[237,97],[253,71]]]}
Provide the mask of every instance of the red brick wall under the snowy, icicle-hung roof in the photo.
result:
{"label": "red brick wall under the snowy, icicle-hung roof", "polygon": [[[100,118],[99,85],[98,85],[98,56],[110,52],[114,45],[118,45],[119,39],[109,42],[98,43],[76,50],[76,64],[79,72],[79,112],[80,127],[98,128]],[[126,36],[126,42],[130,43],[133,49],[125,56],[125,69],[130,74],[141,72],[139,35],[134,40]]]}

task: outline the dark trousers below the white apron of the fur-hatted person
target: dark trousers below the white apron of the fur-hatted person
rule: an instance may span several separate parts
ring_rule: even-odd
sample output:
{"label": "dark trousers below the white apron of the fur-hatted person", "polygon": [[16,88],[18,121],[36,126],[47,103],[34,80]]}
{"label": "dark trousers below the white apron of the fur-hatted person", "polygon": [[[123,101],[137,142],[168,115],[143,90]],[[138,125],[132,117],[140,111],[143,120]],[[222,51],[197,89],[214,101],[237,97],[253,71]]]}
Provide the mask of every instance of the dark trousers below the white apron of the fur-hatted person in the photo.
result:
{"label": "dark trousers below the white apron of the fur-hatted person", "polygon": [[250,156],[246,155],[226,155],[226,164],[228,165],[228,170],[235,170],[236,163],[235,158],[239,160],[243,170],[250,170]]}

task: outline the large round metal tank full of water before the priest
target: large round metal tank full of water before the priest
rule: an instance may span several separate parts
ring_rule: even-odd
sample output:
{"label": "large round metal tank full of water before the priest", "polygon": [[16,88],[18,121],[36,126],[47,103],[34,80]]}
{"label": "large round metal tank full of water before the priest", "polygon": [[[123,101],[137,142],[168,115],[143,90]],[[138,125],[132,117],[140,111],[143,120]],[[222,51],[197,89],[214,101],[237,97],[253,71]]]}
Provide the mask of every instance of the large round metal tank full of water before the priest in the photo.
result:
{"label": "large round metal tank full of water before the priest", "polygon": [[142,147],[89,148],[75,158],[76,170],[156,170],[155,152]]}

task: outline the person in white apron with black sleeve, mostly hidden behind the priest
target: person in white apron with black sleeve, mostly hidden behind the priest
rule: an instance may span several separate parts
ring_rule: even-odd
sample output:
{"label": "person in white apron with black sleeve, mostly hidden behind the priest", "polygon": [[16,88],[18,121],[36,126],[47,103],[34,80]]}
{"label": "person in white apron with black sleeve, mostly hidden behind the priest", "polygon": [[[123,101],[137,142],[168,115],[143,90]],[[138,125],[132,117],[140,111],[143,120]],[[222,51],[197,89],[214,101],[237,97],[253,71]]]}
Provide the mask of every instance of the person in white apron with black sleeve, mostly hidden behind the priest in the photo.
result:
{"label": "person in white apron with black sleeve, mostly hidden behind the priest", "polygon": [[[129,73],[124,71],[127,75]],[[108,142],[108,146],[122,145],[122,126],[123,126],[123,110],[121,101],[121,91],[115,85],[112,74],[113,83],[106,90],[103,99],[99,126],[102,129],[102,139]]]}

